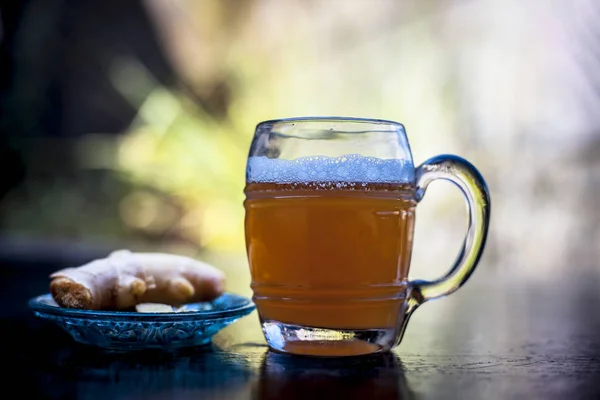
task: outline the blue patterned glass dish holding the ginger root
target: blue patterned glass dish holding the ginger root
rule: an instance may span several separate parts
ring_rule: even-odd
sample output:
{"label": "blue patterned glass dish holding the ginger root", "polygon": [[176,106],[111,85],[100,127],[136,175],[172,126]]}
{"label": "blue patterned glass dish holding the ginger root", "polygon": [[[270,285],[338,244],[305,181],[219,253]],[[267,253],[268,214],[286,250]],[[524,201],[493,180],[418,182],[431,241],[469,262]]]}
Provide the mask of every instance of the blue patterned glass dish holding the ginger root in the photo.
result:
{"label": "blue patterned glass dish holding the ginger root", "polygon": [[219,330],[250,314],[255,305],[246,297],[225,293],[210,302],[188,304],[184,312],[91,311],[59,307],[50,294],[44,294],[29,300],[29,307],[79,343],[131,351],[207,344]]}

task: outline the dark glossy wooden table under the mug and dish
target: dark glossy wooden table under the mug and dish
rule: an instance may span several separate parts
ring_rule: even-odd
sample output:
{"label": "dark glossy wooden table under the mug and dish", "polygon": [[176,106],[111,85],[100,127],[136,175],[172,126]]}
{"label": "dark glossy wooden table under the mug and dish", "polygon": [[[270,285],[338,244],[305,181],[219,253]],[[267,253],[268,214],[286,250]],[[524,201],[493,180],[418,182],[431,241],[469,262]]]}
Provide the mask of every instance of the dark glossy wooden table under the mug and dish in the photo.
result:
{"label": "dark glossy wooden table under the mug and dish", "polygon": [[[597,266],[536,279],[483,266],[417,310],[394,352],[314,359],[269,352],[256,312],[177,355],[76,345],[26,305],[63,265],[0,263],[3,390],[19,398],[600,399]],[[249,294],[237,274],[230,290]]]}

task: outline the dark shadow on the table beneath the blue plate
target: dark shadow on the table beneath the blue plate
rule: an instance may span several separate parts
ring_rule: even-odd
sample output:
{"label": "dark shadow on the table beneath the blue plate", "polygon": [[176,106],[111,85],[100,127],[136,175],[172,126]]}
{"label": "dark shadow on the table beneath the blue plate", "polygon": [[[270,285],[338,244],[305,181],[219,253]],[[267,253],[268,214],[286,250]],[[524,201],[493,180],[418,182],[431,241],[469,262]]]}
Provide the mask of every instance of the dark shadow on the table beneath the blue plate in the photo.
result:
{"label": "dark shadow on the table beneath the blue plate", "polygon": [[212,398],[221,394],[236,398],[248,390],[256,375],[242,358],[213,345],[177,353],[108,353],[74,343],[46,322],[33,324],[28,331],[36,332],[36,337],[27,338],[22,329],[20,348],[7,351],[15,361],[9,377],[15,378],[15,385],[17,379],[24,382],[19,383],[20,392],[35,398]]}

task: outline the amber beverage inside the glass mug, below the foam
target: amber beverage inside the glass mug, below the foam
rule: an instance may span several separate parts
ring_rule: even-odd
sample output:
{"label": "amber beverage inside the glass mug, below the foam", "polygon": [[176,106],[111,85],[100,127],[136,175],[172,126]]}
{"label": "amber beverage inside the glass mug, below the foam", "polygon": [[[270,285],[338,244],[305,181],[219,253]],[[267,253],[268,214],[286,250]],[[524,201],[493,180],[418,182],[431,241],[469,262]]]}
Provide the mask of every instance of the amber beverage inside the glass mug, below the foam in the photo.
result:
{"label": "amber beverage inside the glass mug, below the foam", "polygon": [[389,329],[406,298],[409,185],[250,183],[246,242],[263,321]]}

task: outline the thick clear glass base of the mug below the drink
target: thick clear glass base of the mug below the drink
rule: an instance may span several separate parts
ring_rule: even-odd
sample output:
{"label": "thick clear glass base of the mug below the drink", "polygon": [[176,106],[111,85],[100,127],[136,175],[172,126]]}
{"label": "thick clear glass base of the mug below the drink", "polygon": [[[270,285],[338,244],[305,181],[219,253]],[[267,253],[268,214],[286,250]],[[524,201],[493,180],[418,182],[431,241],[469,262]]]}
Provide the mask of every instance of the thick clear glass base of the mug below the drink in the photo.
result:
{"label": "thick clear glass base of the mug below the drink", "polygon": [[347,357],[390,350],[397,330],[323,329],[262,321],[269,347],[275,351],[317,357]]}

